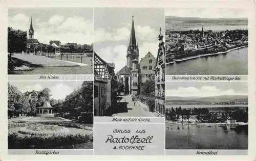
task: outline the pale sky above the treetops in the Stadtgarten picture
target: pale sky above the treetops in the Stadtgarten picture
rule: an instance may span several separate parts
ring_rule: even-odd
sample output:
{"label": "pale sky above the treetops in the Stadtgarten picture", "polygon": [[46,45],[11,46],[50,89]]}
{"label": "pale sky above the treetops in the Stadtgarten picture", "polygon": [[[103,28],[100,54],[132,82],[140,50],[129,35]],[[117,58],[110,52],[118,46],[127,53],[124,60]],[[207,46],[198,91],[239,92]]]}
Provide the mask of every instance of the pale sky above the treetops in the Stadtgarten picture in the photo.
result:
{"label": "pale sky above the treetops in the Stadtgarten picture", "polygon": [[78,89],[83,81],[38,81],[38,82],[9,82],[18,88],[20,92],[40,91],[44,88],[51,90],[51,98],[65,99],[67,95]]}

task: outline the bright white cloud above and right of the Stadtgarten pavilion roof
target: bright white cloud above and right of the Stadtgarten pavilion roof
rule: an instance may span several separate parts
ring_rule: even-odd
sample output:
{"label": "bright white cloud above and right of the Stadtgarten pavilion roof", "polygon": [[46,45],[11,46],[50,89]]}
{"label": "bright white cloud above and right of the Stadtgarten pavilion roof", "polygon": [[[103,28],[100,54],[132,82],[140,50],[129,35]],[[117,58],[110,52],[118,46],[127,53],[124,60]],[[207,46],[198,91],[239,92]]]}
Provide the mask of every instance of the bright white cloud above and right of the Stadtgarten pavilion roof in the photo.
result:
{"label": "bright white cloud above and right of the Stadtgarten pavilion roof", "polygon": [[54,99],[65,99],[74,89],[70,88],[65,84],[58,84],[50,88],[52,98]]}

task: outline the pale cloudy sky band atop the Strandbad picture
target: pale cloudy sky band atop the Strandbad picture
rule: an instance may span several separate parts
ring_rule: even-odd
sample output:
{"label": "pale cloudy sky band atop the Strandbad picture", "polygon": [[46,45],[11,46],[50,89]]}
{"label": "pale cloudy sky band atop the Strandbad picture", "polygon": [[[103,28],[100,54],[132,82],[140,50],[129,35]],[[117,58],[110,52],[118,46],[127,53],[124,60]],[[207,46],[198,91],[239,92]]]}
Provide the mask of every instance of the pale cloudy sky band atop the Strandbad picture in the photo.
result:
{"label": "pale cloudy sky band atop the Strandbad picture", "polygon": [[166,96],[248,95],[247,82],[165,82]]}

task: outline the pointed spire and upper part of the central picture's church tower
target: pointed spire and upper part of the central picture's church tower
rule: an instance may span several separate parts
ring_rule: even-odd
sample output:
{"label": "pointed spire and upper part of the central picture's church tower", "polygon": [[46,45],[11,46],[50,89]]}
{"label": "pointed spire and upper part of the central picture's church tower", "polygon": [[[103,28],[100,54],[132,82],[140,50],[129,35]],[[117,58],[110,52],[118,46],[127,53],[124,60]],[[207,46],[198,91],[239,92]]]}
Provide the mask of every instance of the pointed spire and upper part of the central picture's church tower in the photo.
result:
{"label": "pointed spire and upper part of the central picture's church tower", "polygon": [[129,45],[127,47],[126,59],[127,59],[127,67],[129,68],[129,70],[131,71],[133,70],[133,60],[137,60],[137,64],[135,66],[138,68],[139,47],[136,45],[134,20],[132,20],[131,36],[130,36]]}

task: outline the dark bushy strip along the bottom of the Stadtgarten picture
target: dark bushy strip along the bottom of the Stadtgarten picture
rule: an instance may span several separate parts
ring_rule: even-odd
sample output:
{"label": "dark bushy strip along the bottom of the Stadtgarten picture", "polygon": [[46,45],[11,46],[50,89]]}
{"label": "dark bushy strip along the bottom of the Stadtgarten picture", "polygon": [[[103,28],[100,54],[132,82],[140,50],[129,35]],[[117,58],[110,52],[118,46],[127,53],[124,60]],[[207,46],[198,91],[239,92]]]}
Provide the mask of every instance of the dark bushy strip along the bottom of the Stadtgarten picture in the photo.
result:
{"label": "dark bushy strip along the bottom of the Stadtgarten picture", "polygon": [[93,134],[60,135],[50,136],[30,135],[20,136],[17,133],[8,135],[8,149],[53,149],[61,146],[88,143],[93,141]]}

